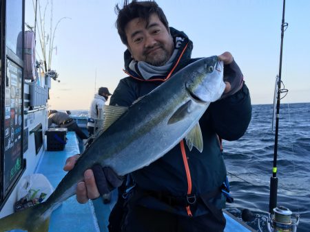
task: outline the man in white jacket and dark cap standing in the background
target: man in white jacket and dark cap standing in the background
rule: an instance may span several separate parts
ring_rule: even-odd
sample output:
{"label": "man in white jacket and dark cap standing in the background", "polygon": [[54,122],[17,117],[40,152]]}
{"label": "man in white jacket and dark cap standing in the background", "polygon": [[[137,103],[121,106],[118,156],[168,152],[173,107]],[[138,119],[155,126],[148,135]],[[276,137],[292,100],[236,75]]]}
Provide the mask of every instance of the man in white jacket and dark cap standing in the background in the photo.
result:
{"label": "man in white jacket and dark cap standing in the background", "polygon": [[94,134],[94,125],[99,116],[99,109],[103,108],[110,95],[112,94],[106,87],[100,87],[98,93],[94,95],[94,99],[90,104],[90,119],[87,121],[87,131],[89,135]]}

